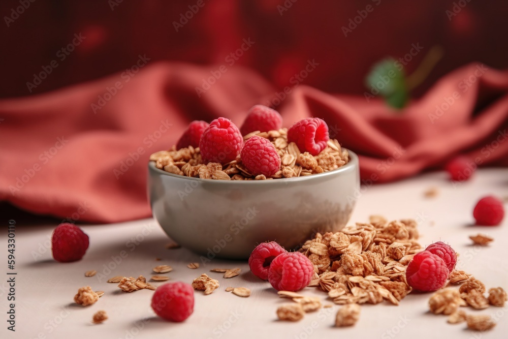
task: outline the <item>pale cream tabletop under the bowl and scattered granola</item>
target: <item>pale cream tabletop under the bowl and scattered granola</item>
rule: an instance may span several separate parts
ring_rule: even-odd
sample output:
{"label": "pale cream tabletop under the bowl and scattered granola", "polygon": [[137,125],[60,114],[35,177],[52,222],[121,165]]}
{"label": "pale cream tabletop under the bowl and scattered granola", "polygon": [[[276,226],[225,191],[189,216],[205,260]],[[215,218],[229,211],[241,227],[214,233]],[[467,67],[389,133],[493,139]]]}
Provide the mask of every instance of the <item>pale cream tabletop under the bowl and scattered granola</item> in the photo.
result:
{"label": "pale cream tabletop under the bowl and scattered granola", "polygon": [[[429,199],[423,193],[430,187],[438,188],[438,196]],[[508,290],[508,217],[497,227],[473,226],[472,209],[475,202],[487,194],[508,196],[508,169],[479,170],[467,182],[454,186],[446,173],[428,173],[415,178],[379,184],[365,188],[351,222],[365,222],[370,214],[382,214],[388,219],[414,218],[420,223],[420,242],[427,245],[443,240],[460,253],[458,265],[483,281],[487,288],[501,286]],[[12,219],[9,215],[4,220]],[[199,256],[185,249],[168,250],[169,238],[153,219],[111,225],[83,225],[90,237],[89,249],[81,261],[58,263],[51,257],[49,239],[57,223],[44,219],[39,225],[16,227],[16,332],[7,330],[7,231],[2,231],[1,248],[4,249],[3,278],[0,283],[2,316],[0,337],[16,338],[505,338],[508,332],[508,306],[489,307],[468,313],[491,314],[497,326],[489,332],[466,330],[464,323],[447,324],[446,316],[428,312],[431,294],[410,294],[399,306],[388,302],[361,307],[356,326],[334,328],[338,305],[308,313],[296,323],[277,321],[275,310],[282,302],[268,282],[253,276],[246,262],[213,260],[199,269],[186,265],[199,261]],[[486,247],[472,246],[468,236],[479,232],[495,238]],[[138,237],[138,241],[136,241]],[[133,241],[134,240],[134,241]],[[136,242],[135,242],[136,241]],[[126,257],[114,263],[114,258],[125,251]],[[162,261],[155,261],[155,258]],[[201,273],[208,273],[220,282],[220,288],[211,295],[195,293],[194,313],[183,323],[170,323],[158,319],[150,308],[153,294],[150,290],[124,293],[117,284],[107,284],[115,275],[151,276],[152,267],[171,265],[167,273],[171,281],[192,282]],[[108,271],[111,265],[113,269]],[[232,279],[211,268],[241,267],[242,273]],[[96,269],[104,273],[86,278],[84,272]],[[161,285],[155,283],[154,285]],[[83,307],[73,303],[79,287],[90,285],[94,290],[105,291],[99,301]],[[240,298],[225,292],[228,286],[248,287],[249,298]],[[327,295],[315,288],[306,288],[305,295],[323,298]],[[109,319],[100,325],[91,318],[105,310]]]}

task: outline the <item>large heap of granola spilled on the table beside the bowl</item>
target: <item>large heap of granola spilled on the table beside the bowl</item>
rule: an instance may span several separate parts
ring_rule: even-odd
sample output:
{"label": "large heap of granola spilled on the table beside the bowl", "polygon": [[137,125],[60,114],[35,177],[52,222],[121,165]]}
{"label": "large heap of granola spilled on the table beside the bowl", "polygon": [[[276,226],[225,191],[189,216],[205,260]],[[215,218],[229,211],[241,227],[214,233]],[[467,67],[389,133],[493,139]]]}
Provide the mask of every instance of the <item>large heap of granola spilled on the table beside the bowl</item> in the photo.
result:
{"label": "large heap of granola spilled on the table beside the bowl", "polygon": [[317,233],[300,250],[314,265],[309,286],[328,292],[336,304],[386,299],[398,305],[411,291],[405,270],[421,251],[417,239],[414,220],[388,222],[379,216],[337,233]]}

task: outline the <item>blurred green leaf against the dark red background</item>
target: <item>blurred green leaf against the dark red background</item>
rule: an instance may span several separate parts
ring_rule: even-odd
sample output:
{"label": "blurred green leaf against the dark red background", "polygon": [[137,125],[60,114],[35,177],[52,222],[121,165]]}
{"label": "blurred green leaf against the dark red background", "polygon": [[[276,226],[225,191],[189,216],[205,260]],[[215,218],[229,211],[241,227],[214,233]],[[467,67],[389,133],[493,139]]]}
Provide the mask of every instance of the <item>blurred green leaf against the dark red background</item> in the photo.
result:
{"label": "blurred green leaf against the dark red background", "polygon": [[370,94],[379,94],[388,105],[402,108],[409,99],[404,68],[393,58],[375,64],[365,78]]}

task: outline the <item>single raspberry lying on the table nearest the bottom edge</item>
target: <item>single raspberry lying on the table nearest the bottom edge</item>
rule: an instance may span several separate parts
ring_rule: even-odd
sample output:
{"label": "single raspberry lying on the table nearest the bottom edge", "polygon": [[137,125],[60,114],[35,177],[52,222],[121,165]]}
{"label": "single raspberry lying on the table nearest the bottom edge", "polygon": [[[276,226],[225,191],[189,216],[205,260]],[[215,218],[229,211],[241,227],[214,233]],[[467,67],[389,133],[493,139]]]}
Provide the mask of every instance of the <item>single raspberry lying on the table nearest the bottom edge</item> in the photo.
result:
{"label": "single raspberry lying on the table nearest the bottom edge", "polygon": [[161,285],[153,293],[151,306],[157,316],[182,322],[194,311],[194,289],[182,282]]}

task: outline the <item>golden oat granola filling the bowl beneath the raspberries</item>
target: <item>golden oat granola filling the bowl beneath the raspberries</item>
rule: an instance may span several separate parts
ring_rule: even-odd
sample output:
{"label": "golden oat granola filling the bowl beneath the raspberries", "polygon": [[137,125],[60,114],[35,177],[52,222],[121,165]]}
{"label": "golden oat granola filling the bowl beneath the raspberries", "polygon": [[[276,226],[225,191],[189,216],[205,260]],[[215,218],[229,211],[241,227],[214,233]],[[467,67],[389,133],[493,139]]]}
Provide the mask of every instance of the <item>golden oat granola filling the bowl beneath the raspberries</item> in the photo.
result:
{"label": "golden oat granola filling the bowl beneath the raspberries", "polygon": [[294,142],[288,143],[288,129],[269,132],[252,132],[243,137],[244,140],[257,135],[267,138],[277,149],[281,159],[280,169],[271,177],[263,174],[254,176],[242,164],[240,156],[225,164],[204,164],[199,147],[188,146],[170,150],[162,150],[153,153],[150,161],[155,162],[155,167],[166,172],[203,179],[217,180],[265,180],[278,178],[291,178],[317,173],[323,173],[337,169],[349,162],[346,149],[342,149],[337,140],[329,140],[327,147],[319,155],[312,156],[309,152],[301,152]]}

